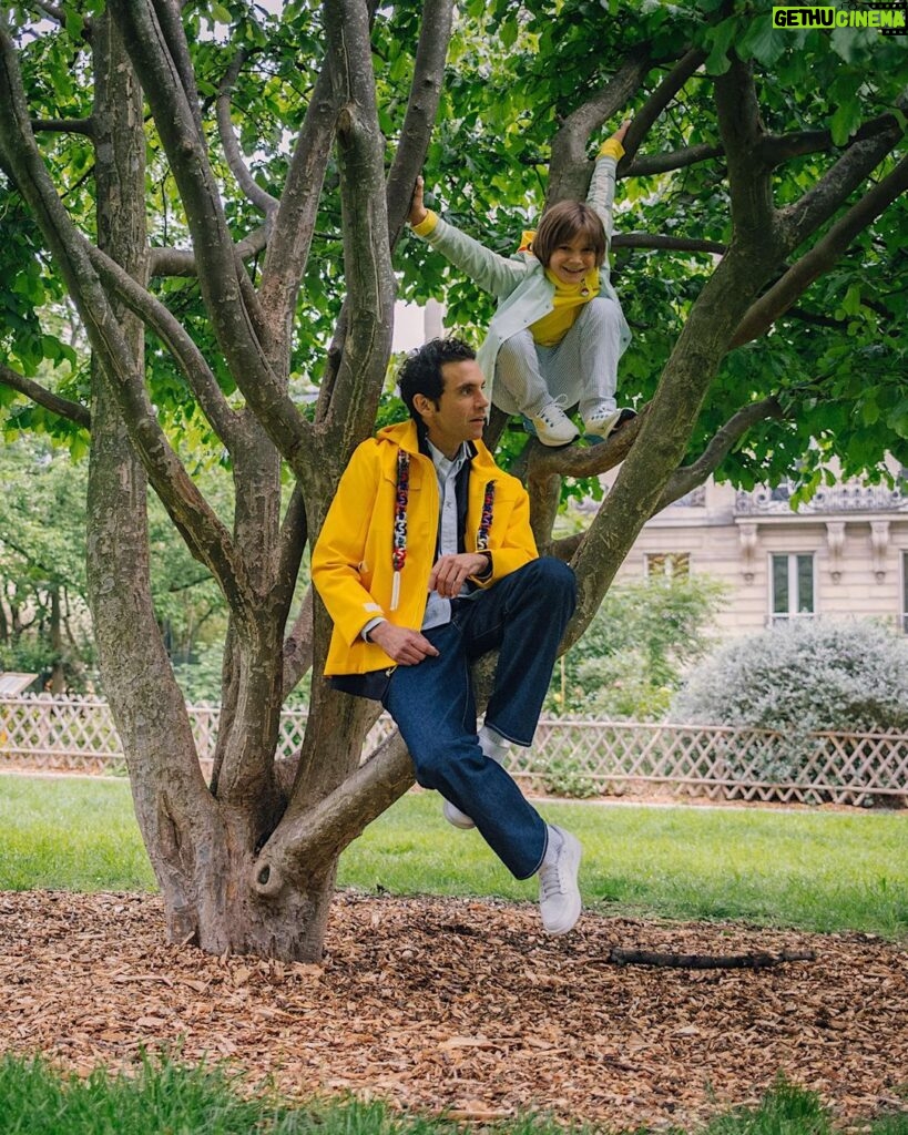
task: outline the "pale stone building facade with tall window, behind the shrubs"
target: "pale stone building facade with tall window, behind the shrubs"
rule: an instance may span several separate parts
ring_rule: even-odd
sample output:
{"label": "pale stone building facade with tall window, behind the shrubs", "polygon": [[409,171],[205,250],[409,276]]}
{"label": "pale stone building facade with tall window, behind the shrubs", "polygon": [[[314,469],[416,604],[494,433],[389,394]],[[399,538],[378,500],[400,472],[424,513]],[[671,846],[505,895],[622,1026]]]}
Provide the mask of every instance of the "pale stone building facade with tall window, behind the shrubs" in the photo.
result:
{"label": "pale stone building facade with tall window, behind the shrubs", "polygon": [[843,482],[791,507],[789,487],[707,485],[654,516],[619,579],[706,572],[726,634],[790,619],[875,619],[908,633],[908,493]]}

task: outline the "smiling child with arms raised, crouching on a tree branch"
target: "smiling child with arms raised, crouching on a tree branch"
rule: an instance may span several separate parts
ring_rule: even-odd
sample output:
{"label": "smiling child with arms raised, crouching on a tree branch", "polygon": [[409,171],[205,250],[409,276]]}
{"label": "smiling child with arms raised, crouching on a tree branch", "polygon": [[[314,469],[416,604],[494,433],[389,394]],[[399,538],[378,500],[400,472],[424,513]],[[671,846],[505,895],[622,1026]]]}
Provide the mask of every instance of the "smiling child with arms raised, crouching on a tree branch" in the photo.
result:
{"label": "smiling child with arms raised, crouching on a tree branch", "polygon": [[477,361],[486,393],[505,413],[523,414],[544,445],[580,436],[568,411],[578,406],[585,435],[604,440],[634,417],[615,402],[617,361],[630,342],[608,278],[615,167],[629,123],[603,143],[586,202],[561,201],[513,257],[501,257],[423,203],[423,182],[410,207],[417,236],[498,300]]}

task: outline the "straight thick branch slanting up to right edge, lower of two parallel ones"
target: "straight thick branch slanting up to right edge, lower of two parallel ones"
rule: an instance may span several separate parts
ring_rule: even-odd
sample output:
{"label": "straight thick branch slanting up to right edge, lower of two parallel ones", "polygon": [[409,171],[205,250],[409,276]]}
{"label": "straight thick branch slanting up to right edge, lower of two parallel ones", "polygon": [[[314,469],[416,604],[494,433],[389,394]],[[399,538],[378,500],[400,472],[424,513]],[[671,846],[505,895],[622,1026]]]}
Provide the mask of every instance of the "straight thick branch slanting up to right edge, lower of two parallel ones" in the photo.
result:
{"label": "straight thick branch slanting up to right edge, lower of two parallel ones", "polygon": [[840,259],[854,238],[873,224],[892,202],[908,190],[908,158],[875,185],[869,193],[840,218],[809,252],[777,280],[750,308],[741,320],[733,347],[764,335],[807,288]]}

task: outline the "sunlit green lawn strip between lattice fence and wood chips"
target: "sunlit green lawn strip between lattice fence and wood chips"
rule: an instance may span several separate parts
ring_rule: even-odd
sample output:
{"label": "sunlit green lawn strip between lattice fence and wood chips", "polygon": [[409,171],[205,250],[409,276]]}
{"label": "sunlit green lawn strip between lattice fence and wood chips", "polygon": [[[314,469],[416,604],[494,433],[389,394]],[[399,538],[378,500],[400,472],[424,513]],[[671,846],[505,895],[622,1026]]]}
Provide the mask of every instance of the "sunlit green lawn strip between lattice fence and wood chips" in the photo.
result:
{"label": "sunlit green lawn strip between lattice fence and wood chips", "polygon": [[[570,827],[594,909],[908,934],[908,814],[541,804]],[[410,793],[340,860],[338,883],[532,900],[476,832]],[[0,775],[0,890],[152,890],[125,781]]]}

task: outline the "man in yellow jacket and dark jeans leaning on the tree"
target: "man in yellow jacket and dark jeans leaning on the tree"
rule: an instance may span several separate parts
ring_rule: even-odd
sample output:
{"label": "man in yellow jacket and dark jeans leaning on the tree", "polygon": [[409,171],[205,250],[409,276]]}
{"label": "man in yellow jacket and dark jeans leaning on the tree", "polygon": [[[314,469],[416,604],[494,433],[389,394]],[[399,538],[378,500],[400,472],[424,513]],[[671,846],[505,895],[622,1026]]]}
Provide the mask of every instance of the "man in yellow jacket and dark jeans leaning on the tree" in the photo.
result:
{"label": "man in yellow jacket and dark jeans leaning on the tree", "polygon": [[[543,924],[565,934],[580,917],[580,844],[545,823],[503,762],[532,743],[577,585],[538,555],[526,489],[482,444],[484,386],[471,347],[427,343],[400,373],[411,420],[353,454],[312,554],[334,621],[325,672],[380,698],[445,817],[476,826],[518,878],[538,873]],[[477,732],[470,666],[495,649]]]}

